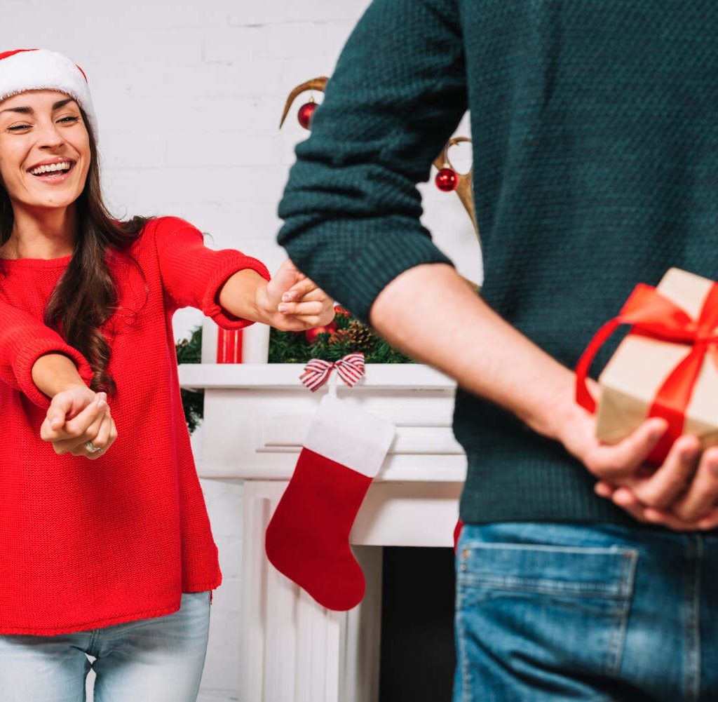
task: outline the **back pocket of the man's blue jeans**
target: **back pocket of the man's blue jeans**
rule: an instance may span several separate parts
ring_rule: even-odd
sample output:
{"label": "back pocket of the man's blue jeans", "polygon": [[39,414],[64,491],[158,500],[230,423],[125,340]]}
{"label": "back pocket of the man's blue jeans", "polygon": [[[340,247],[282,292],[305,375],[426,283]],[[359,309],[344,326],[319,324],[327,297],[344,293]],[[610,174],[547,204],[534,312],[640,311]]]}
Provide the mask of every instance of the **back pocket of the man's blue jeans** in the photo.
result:
{"label": "back pocket of the man's blue jeans", "polygon": [[480,689],[466,699],[537,700],[531,680],[546,699],[582,699],[582,680],[615,674],[637,561],[620,546],[462,539],[457,653],[465,689]]}

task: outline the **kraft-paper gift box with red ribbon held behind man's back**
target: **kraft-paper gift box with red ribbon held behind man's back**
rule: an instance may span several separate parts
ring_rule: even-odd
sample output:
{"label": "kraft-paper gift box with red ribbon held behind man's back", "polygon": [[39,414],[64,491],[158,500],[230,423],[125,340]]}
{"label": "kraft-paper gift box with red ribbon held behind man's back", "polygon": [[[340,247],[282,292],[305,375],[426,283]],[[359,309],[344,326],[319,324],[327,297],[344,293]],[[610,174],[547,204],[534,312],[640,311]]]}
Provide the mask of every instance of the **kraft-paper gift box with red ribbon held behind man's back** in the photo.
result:
{"label": "kraft-paper gift box with red ribbon held behind man's back", "polygon": [[660,416],[668,431],[651,462],[662,462],[681,434],[698,436],[703,448],[718,444],[718,284],[671,268],[656,288],[638,285],[577,365],[577,401],[589,411],[590,362],[620,324],[631,329],[598,379],[598,439],[615,444]]}

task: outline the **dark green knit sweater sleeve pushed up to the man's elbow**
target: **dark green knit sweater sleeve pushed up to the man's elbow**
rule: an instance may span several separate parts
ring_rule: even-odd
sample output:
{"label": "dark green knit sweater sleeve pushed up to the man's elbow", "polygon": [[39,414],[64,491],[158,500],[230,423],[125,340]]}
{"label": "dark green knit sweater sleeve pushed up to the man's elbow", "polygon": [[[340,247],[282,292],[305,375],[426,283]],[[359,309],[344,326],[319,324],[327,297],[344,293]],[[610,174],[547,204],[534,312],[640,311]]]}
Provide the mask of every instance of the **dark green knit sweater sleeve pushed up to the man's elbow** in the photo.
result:
{"label": "dark green knit sweater sleeve pushed up to the man's elbow", "polygon": [[466,111],[456,0],[374,0],[342,50],[279,216],[294,264],[363,320],[396,276],[451,263],[416,183]]}

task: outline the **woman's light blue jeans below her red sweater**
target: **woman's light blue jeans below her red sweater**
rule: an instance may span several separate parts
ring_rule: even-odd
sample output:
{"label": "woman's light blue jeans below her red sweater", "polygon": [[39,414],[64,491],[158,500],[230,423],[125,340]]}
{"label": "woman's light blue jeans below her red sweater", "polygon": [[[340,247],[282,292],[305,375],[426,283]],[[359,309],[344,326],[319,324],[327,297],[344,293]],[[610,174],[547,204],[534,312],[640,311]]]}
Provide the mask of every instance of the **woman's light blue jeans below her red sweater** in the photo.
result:
{"label": "woman's light blue jeans below her red sweater", "polygon": [[[74,634],[0,636],[2,702],[195,702],[210,622],[208,592],[182,594],[178,612]],[[90,663],[87,655],[96,658]]]}

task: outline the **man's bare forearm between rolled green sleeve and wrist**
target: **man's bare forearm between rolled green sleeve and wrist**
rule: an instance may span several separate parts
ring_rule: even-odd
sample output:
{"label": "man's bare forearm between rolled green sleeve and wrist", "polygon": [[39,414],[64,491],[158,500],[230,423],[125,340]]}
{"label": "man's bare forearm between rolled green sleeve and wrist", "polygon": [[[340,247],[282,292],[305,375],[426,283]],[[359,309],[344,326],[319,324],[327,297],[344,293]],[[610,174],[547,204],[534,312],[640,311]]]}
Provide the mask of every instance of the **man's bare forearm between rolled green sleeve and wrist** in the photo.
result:
{"label": "man's bare forearm between rolled green sleeve and wrist", "polygon": [[409,268],[378,295],[372,326],[388,342],[558,438],[574,375],[493,312],[454,268]]}

